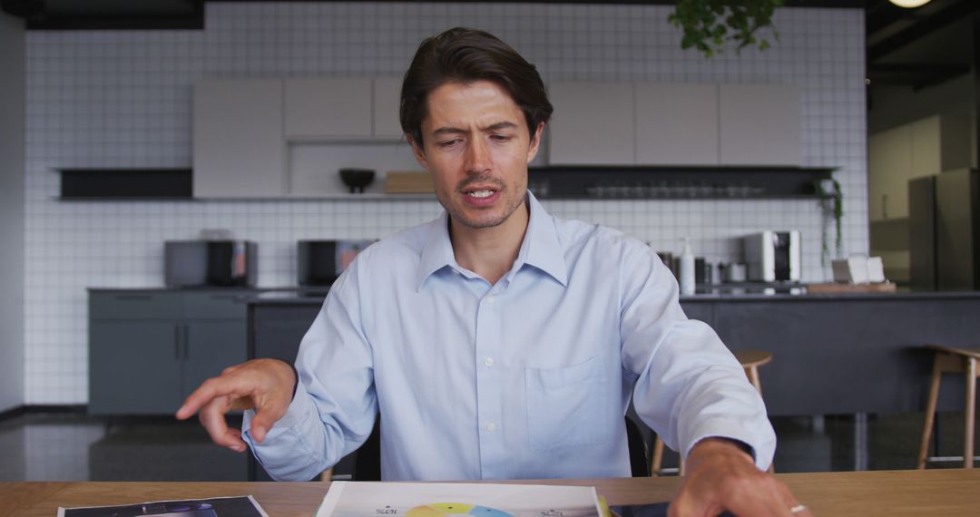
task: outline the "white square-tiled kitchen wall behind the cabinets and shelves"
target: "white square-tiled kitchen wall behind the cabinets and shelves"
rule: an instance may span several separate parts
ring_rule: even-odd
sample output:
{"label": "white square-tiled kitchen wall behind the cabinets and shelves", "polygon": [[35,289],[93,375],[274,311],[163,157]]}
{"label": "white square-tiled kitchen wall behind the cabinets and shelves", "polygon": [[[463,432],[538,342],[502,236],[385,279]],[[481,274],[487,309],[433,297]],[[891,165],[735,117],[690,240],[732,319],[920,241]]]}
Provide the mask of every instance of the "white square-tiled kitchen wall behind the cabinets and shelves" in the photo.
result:
{"label": "white square-tiled kitchen wall behind the cabinets and shelves", "polygon": [[[711,60],[680,49],[667,6],[477,3],[207,4],[205,30],[34,31],[27,37],[26,403],[87,400],[87,286],[159,286],[162,242],[230,228],[260,243],[263,286],[294,282],[294,243],[371,238],[422,222],[434,202],[59,202],[56,167],[191,163],[191,84],[202,77],[402,73],[418,42],[484,28],[545,80],[765,82],[802,89],[804,163],[839,166],[847,253],[867,251],[864,34],[860,10],[781,9],[779,41]],[[678,251],[737,258],[737,238],[799,228],[822,280],[814,201],[556,201]]]}

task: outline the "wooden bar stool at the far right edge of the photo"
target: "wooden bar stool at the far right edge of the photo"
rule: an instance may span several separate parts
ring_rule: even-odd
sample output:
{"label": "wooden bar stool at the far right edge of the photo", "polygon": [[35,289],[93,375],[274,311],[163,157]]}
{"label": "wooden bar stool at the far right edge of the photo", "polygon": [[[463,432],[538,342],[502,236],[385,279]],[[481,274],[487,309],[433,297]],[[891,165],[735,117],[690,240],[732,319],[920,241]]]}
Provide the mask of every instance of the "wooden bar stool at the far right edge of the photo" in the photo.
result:
{"label": "wooden bar stool at the far right edge of the photo", "polygon": [[963,426],[963,468],[973,468],[973,425],[976,418],[976,386],[977,359],[980,359],[980,348],[959,349],[943,345],[926,345],[925,348],[936,352],[932,364],[932,380],[929,382],[929,400],[925,408],[925,424],[922,426],[922,443],[919,444],[918,464],[916,468],[924,469],[926,461],[956,461],[958,456],[930,457],[929,437],[932,435],[932,425],[936,420],[936,401],[939,400],[939,384],[944,373],[966,374],[966,406],[964,409]]}

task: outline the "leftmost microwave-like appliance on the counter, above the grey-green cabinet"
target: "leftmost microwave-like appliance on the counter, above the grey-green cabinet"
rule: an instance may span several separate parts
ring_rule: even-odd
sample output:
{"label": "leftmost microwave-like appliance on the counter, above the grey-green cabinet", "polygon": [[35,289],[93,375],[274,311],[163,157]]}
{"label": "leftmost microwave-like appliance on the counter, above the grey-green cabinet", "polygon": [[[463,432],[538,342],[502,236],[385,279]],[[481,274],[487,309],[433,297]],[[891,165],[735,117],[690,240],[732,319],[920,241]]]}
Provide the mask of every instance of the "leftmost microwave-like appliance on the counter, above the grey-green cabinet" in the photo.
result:
{"label": "leftmost microwave-like appliance on the counter, above the grey-green cabinet", "polygon": [[167,241],[165,283],[172,287],[254,287],[259,247],[251,241]]}

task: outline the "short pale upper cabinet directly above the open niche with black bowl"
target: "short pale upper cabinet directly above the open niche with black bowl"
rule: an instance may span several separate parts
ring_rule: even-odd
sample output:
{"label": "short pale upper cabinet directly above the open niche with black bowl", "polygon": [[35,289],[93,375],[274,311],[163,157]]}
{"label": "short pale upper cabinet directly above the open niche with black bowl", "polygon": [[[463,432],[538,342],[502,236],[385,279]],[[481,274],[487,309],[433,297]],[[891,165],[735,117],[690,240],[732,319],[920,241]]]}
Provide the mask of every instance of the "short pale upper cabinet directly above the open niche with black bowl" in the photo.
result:
{"label": "short pale upper cabinet directly above the open niche with black bowl", "polygon": [[286,79],[286,138],[371,136],[371,79]]}

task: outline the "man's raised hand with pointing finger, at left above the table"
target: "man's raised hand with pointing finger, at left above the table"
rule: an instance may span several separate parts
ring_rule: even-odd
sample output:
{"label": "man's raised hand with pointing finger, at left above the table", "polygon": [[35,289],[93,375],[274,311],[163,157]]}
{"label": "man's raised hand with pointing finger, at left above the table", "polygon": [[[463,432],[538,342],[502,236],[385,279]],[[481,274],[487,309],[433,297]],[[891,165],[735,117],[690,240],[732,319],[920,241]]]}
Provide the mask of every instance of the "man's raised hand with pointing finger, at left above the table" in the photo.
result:
{"label": "man's raised hand with pointing finger, at left above the table", "polygon": [[238,429],[228,429],[224,414],[255,409],[252,437],[262,443],[272,424],[286,414],[296,382],[293,368],[281,360],[250,360],[225,368],[221,376],[205,381],[184,400],[176,417],[186,420],[200,410],[201,424],[208,430],[211,440],[221,447],[242,452],[246,447],[242,433]]}

